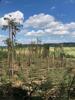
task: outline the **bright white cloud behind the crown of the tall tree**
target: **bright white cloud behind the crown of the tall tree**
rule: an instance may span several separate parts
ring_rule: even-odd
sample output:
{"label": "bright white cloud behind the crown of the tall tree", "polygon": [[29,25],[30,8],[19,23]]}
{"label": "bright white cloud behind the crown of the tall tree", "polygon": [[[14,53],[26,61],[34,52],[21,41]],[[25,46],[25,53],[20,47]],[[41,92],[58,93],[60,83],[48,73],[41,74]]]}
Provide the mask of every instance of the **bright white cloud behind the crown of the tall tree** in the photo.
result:
{"label": "bright white cloud behind the crown of the tall tree", "polygon": [[18,24],[23,24],[24,15],[20,11],[15,11],[5,14],[2,18],[0,18],[0,27],[3,25],[8,25],[8,21],[4,20],[4,18],[8,18],[9,20],[14,20],[14,22]]}

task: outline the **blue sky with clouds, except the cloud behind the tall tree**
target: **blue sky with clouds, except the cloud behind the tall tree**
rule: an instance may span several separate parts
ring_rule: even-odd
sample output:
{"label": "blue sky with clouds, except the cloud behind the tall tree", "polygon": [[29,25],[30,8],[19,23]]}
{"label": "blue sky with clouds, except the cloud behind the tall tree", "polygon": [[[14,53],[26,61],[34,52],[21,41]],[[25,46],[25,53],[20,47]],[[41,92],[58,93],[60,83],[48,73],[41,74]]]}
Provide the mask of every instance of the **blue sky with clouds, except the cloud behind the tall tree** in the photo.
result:
{"label": "blue sky with clouds, except the cloud behind the tall tree", "polygon": [[[19,43],[75,42],[75,0],[0,0],[0,19],[17,11],[24,17]],[[0,45],[7,37],[0,28]]]}

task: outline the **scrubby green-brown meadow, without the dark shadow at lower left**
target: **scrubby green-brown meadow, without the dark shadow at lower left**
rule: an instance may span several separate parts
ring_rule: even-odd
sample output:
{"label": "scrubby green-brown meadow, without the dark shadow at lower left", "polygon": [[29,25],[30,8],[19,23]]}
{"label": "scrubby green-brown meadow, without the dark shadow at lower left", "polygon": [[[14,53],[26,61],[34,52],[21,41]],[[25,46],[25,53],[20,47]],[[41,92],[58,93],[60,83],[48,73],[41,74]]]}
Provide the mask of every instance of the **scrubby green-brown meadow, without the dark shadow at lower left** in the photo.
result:
{"label": "scrubby green-brown meadow, without the dark shadow at lower left", "polygon": [[8,49],[1,47],[0,85],[21,87],[32,100],[75,99],[75,47],[15,47],[12,69],[11,77]]}

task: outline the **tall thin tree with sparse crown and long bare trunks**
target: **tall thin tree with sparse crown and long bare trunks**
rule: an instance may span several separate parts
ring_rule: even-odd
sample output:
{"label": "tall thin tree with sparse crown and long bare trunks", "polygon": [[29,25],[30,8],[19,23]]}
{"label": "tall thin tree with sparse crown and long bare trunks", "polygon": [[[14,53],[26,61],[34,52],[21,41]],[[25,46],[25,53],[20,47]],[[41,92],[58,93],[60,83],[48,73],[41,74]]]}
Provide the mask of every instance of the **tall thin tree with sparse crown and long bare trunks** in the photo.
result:
{"label": "tall thin tree with sparse crown and long bare trunks", "polygon": [[4,20],[8,22],[7,26],[3,26],[3,29],[9,30],[9,38],[6,40],[6,43],[8,45],[9,75],[12,77],[14,74],[14,38],[16,32],[20,30],[21,25],[15,22],[15,19],[4,18]]}

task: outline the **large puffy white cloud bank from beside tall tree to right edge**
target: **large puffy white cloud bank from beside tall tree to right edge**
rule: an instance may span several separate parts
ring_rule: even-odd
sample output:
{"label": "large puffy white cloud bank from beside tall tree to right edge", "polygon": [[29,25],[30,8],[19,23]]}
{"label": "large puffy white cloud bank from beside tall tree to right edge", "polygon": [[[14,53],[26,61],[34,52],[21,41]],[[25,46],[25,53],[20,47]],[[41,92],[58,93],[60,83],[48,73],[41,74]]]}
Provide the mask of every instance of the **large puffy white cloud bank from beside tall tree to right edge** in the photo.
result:
{"label": "large puffy white cloud bank from beside tall tree to right edge", "polygon": [[48,14],[38,14],[29,17],[24,22],[22,32],[26,35],[72,34],[75,32],[75,22],[63,24]]}

